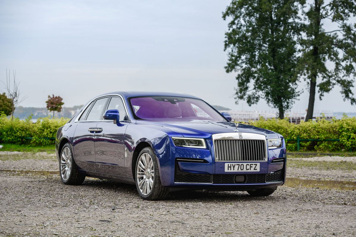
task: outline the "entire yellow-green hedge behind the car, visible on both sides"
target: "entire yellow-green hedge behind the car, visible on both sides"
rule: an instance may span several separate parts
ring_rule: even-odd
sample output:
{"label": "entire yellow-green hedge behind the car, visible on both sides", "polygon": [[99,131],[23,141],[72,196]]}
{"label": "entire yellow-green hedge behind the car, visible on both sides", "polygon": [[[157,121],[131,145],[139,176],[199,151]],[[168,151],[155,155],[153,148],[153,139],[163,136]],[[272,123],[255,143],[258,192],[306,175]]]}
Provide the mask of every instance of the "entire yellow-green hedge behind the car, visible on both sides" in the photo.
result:
{"label": "entire yellow-green hedge behind the car, visible on both sides", "polygon": [[[26,120],[8,119],[0,116],[0,142],[6,144],[28,144],[44,146],[54,144],[54,140],[42,138],[54,138],[57,129],[68,121],[67,118],[51,119],[49,117],[38,119],[36,123],[31,118]],[[342,119],[331,121],[319,118],[317,121],[291,124],[286,119],[264,119],[250,121],[249,124],[275,131],[285,139],[340,139],[340,141],[301,141],[300,151],[356,151],[356,117],[344,116]],[[33,139],[25,139],[33,138]],[[296,151],[297,142],[287,141],[287,150]]]}

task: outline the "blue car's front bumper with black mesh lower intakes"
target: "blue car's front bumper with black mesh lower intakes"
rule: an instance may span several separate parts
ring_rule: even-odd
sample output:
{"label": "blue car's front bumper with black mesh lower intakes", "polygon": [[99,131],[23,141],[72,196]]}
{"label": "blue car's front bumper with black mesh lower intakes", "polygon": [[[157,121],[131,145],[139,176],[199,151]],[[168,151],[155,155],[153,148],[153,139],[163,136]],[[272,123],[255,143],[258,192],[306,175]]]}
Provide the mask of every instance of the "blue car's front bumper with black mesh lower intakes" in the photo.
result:
{"label": "blue car's front bumper with black mesh lower intakes", "polygon": [[[207,144],[207,149],[185,147],[172,149],[171,157],[176,158],[171,160],[173,170],[171,171],[171,182],[167,186],[193,189],[252,190],[284,184],[286,177],[284,144],[282,148],[268,150],[267,161],[253,161],[253,163],[260,163],[258,172],[225,172],[225,163],[231,162],[215,162],[212,140],[207,140]],[[182,158],[203,160],[204,162],[184,162],[181,161]],[[275,159],[278,159],[279,162],[273,162]]]}

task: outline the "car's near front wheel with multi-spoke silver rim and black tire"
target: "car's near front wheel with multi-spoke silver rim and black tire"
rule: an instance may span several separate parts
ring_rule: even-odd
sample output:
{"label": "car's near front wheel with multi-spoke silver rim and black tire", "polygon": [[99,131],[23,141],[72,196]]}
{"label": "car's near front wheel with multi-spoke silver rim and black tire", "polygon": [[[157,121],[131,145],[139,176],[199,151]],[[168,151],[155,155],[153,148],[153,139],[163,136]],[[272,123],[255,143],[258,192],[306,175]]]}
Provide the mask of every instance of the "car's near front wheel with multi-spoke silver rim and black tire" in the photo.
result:
{"label": "car's near front wheel with multi-spoke silver rim and black tire", "polygon": [[138,194],[144,200],[162,200],[168,196],[168,188],[162,186],[157,157],[151,147],[143,148],[138,155],[135,183]]}

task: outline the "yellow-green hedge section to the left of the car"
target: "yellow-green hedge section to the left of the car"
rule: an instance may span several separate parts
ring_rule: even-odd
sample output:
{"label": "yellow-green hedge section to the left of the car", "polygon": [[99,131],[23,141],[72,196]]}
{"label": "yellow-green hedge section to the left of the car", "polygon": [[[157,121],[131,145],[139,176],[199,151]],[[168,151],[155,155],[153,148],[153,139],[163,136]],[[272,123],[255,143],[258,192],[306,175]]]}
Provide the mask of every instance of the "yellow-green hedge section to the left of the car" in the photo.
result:
{"label": "yellow-green hedge section to the left of the car", "polygon": [[[6,115],[0,115],[0,141],[6,144],[28,144],[33,146],[46,146],[54,144],[57,129],[67,123],[67,118],[50,117],[38,119],[36,123],[31,117],[26,120],[14,118],[11,120]],[[33,138],[33,139],[25,139]]]}

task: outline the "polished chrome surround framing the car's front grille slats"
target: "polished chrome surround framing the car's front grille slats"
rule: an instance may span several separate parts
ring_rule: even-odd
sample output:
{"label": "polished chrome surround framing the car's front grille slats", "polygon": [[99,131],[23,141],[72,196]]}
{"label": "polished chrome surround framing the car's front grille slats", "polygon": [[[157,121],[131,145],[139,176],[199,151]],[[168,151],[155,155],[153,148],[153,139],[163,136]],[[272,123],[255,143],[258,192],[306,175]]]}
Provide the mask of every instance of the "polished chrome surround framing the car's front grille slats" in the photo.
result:
{"label": "polished chrome surround framing the car's front grille slats", "polygon": [[[242,139],[240,139],[239,134],[240,134],[239,132],[234,132],[234,133],[217,133],[217,134],[211,135],[211,137],[213,138],[214,161],[215,162],[225,162],[225,163],[268,162],[268,143],[267,143],[266,135],[257,134],[257,133],[241,133]],[[215,145],[214,145],[215,140],[262,140],[262,141],[265,141],[265,145],[266,145],[265,160],[263,160],[263,161],[220,161],[220,160],[216,160],[216,158],[215,158],[216,150],[215,150]]]}

